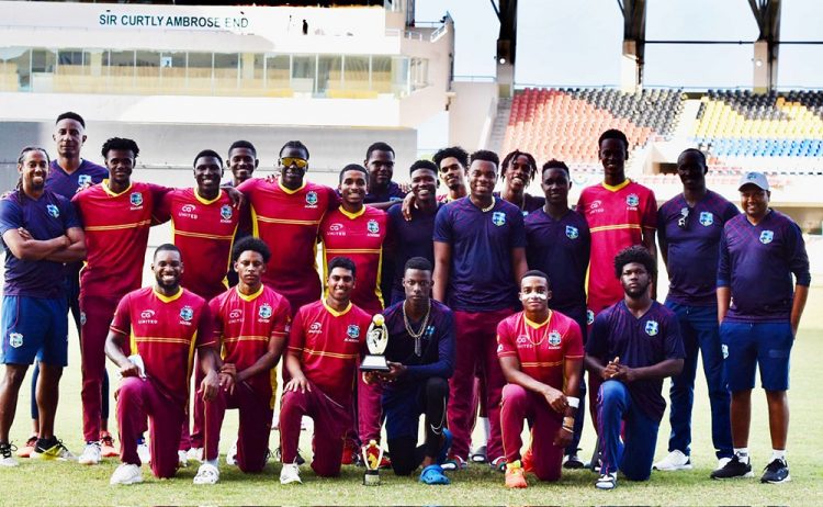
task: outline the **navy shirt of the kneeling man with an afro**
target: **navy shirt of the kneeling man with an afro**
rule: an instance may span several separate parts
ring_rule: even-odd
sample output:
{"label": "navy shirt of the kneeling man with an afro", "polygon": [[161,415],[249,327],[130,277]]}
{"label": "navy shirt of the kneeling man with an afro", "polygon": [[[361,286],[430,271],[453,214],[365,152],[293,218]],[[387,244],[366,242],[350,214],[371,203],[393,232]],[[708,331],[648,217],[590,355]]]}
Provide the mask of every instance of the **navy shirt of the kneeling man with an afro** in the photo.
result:
{"label": "navy shirt of the kneeling man with an afro", "polygon": [[[651,367],[666,359],[686,357],[677,315],[656,301],[640,318],[632,315],[624,301],[600,312],[588,336],[586,353],[604,364],[620,358],[620,363],[629,368]],[[663,418],[666,409],[666,401],[661,395],[663,379],[639,380],[625,385],[638,408],[656,421]]]}

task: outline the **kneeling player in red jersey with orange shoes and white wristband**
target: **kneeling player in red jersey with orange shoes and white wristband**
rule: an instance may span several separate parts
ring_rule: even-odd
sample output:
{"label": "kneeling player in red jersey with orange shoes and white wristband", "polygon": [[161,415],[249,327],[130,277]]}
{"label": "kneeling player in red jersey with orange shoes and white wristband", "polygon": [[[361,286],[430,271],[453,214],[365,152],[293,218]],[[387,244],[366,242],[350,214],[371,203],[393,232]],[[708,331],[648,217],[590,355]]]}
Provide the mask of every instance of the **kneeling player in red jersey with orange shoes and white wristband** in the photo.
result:
{"label": "kneeling player in red jersey with orange shoes and white wristband", "polygon": [[[551,296],[549,277],[528,271],[520,280],[523,311],[497,326],[497,356],[508,382],[500,408],[506,487],[526,487],[527,467],[541,481],[557,481],[574,437],[583,336],[574,319],[549,309]],[[526,467],[520,463],[523,419],[532,435]]]}

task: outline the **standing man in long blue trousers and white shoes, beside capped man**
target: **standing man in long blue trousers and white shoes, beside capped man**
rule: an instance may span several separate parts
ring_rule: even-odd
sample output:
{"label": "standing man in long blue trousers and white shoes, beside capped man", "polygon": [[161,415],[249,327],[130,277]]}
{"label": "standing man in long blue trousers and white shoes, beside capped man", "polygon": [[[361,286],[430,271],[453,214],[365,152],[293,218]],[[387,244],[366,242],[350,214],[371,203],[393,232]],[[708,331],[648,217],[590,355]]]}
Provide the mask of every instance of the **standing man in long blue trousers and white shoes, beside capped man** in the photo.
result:
{"label": "standing man in long blue trousers and white shoes, beside capped man", "polygon": [[657,212],[657,238],[668,271],[666,307],[677,314],[686,359],[683,372],[672,378],[668,455],[655,470],[690,470],[691,407],[695,399],[697,357],[702,354],[711,403],[711,436],[718,469],[732,458],[729,390],[723,382],[723,356],[718,328],[715,293],[718,251],[723,224],[740,212],[720,194],[706,188],[706,156],[689,148],[677,158],[683,193]]}

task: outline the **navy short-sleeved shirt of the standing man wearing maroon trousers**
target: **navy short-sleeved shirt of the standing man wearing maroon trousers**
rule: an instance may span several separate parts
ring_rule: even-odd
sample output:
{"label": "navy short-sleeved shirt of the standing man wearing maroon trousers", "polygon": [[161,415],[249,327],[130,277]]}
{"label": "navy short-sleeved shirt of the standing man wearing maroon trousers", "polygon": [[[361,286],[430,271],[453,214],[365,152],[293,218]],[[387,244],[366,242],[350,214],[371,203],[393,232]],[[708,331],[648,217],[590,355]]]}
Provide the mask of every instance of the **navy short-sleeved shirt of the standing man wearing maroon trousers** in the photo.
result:
{"label": "navy short-sleeved shirt of the standing man wearing maroon trousers", "polygon": [[451,245],[447,298],[461,312],[491,312],[518,306],[511,249],[526,247],[520,210],[495,198],[484,212],[470,198],[452,201],[435,219],[435,241]]}

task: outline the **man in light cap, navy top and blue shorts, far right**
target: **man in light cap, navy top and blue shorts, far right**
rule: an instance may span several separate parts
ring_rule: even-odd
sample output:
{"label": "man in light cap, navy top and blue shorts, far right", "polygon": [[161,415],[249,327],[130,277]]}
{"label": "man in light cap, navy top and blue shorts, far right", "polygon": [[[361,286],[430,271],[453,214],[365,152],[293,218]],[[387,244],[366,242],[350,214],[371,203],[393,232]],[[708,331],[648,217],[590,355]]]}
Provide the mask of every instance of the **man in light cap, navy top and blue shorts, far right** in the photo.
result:
{"label": "man in light cap, navy top and blue shorts, far right", "polygon": [[753,475],[748,430],[757,367],[766,391],[773,449],[760,482],[780,484],[791,481],[786,461],[789,356],[809,296],[809,257],[800,227],[769,207],[771,192],[765,174],[747,172],[739,188],[744,214],[723,227],[718,268],[718,319],[732,392],[734,455],[711,477]]}

